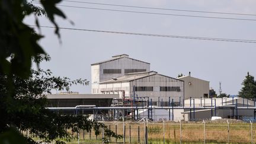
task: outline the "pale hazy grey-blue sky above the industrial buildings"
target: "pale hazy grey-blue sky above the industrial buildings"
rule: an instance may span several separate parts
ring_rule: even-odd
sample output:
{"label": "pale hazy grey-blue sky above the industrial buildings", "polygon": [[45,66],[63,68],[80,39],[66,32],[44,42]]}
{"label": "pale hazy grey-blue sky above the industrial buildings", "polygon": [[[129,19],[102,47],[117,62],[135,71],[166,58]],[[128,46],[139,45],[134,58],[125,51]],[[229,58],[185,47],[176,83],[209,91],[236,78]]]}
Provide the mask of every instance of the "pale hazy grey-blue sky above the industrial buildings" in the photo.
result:
{"label": "pale hazy grey-blue sky above the industrial buildings", "polygon": [[[79,1],[140,7],[256,14],[255,0]],[[256,16],[247,15],[200,14],[196,12],[110,7],[75,2],[62,2],[61,4],[127,11],[256,19]],[[68,20],[57,18],[56,20],[60,27],[256,40],[256,21],[177,17],[70,7],[59,8],[65,12],[69,20],[75,23],[75,25],[72,25]],[[34,24],[34,16],[27,18],[25,22],[27,24]],[[40,18],[40,24],[52,26],[44,17]],[[54,75],[68,76],[71,79],[84,78],[91,81],[91,63],[109,59],[113,55],[123,53],[132,58],[151,63],[151,70],[163,75],[177,77],[179,73],[188,75],[188,72],[191,71],[191,76],[210,81],[210,87],[215,89],[216,92],[219,89],[219,81],[221,81],[222,91],[227,94],[238,93],[241,89],[241,82],[248,71],[251,75],[256,76],[256,43],[173,39],[60,30],[62,40],[60,44],[53,29],[41,28],[41,33],[44,34],[45,38],[40,43],[44,50],[52,57],[50,62],[41,63],[41,68],[51,69]],[[74,86],[71,88],[71,91],[90,93],[91,85]]]}

